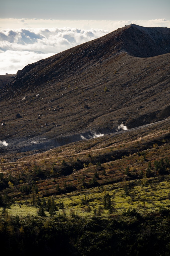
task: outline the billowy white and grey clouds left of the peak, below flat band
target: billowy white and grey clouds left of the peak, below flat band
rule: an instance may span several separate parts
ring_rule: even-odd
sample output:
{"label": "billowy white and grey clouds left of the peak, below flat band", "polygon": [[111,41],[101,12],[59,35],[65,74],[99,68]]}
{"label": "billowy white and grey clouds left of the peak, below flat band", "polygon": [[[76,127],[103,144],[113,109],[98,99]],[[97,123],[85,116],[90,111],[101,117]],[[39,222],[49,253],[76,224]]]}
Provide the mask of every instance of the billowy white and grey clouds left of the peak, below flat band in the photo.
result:
{"label": "billowy white and grey clouds left of the peak, below flat band", "polygon": [[0,74],[14,74],[24,66],[47,58],[110,31],[78,28],[21,28],[0,31]]}

